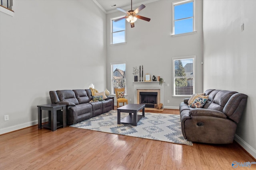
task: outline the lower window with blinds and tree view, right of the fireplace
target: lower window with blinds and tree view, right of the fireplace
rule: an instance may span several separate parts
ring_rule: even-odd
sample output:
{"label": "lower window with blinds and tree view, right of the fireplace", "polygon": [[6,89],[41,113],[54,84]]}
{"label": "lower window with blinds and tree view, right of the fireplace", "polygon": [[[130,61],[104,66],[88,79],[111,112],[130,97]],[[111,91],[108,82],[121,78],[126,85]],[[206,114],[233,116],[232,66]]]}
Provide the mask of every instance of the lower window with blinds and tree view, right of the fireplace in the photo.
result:
{"label": "lower window with blinds and tree view, right of the fireplace", "polygon": [[172,59],[174,96],[190,96],[195,93],[194,60],[194,56]]}

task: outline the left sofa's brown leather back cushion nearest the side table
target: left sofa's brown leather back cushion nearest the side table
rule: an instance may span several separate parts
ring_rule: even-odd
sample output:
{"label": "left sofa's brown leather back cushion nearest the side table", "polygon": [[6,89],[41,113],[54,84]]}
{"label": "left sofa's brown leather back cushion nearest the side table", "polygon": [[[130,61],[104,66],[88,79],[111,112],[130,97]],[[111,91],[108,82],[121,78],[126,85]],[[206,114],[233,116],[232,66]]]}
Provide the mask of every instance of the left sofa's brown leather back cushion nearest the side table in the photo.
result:
{"label": "left sofa's brown leather back cushion nearest the side table", "polygon": [[57,90],[58,98],[61,101],[72,102],[74,104],[79,104],[78,100],[76,99],[76,95],[73,90]]}

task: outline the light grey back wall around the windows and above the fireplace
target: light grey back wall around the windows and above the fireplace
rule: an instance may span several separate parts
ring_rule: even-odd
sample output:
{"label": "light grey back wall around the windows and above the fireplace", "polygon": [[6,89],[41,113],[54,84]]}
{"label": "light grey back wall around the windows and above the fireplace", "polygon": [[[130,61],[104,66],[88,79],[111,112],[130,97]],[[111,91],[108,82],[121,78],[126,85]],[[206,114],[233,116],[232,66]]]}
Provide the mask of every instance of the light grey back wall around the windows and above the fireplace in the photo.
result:
{"label": "light grey back wall around the windows and above the fireplace", "polygon": [[[132,67],[143,65],[144,74],[160,76],[164,79],[164,108],[178,109],[184,97],[172,97],[172,57],[196,55],[196,92],[203,91],[202,69],[202,1],[196,1],[197,33],[171,36],[172,0],[160,0],[145,4],[139,15],[151,18],[150,22],[137,20],[135,27],[126,24],[126,44],[110,46],[110,19],[124,15],[122,12],[107,14],[107,85],[111,89],[110,63],[126,61],[128,99],[134,102],[134,75]],[[133,6],[134,9],[137,7]],[[130,10],[130,9],[127,9]],[[170,84],[170,86],[167,86]],[[170,103],[167,103],[170,100]]]}

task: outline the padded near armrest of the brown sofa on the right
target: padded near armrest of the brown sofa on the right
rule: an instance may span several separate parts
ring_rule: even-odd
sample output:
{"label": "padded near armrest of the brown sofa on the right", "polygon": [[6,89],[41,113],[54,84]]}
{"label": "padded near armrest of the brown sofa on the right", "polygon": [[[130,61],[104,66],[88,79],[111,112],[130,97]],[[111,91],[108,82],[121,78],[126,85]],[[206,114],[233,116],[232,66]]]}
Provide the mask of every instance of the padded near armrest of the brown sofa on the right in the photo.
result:
{"label": "padded near armrest of the brown sofa on the right", "polygon": [[189,111],[192,116],[212,116],[212,117],[220,117],[226,119],[227,116],[221,111],[212,110],[212,109],[191,109]]}

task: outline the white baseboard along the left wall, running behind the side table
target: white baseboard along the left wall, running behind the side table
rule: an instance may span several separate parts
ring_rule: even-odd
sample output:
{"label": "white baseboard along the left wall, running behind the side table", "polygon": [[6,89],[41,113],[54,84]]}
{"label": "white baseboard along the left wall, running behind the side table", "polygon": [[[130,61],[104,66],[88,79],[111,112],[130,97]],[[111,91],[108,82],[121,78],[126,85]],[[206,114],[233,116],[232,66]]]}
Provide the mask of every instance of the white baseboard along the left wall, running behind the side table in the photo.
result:
{"label": "white baseboard along the left wall, running behind the side table", "polygon": [[[42,123],[47,122],[47,121],[48,121],[48,117],[42,119]],[[34,126],[34,125],[37,125],[37,124],[38,124],[38,120],[34,120],[34,121],[21,123],[21,124],[14,125],[14,126],[5,127],[5,128],[0,129],[0,135],[4,134],[4,133],[9,133],[9,132],[12,132],[12,131],[16,131],[16,130],[19,130],[19,129],[22,129],[22,128]]]}

